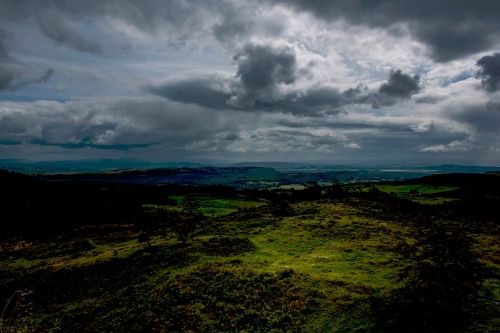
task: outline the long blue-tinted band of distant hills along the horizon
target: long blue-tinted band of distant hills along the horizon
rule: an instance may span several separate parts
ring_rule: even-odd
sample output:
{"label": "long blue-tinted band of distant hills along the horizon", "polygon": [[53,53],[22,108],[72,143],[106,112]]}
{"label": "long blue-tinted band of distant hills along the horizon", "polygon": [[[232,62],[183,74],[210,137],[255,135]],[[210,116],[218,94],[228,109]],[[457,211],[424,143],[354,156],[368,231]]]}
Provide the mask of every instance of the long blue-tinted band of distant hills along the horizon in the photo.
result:
{"label": "long blue-tinted band of distant hills along the horizon", "polygon": [[137,160],[30,162],[0,160],[0,168],[51,181],[97,181],[131,184],[227,185],[277,188],[315,181],[320,184],[401,181],[448,173],[495,173],[500,167],[436,165],[362,168],[292,162],[242,162],[213,166],[194,162],[153,163]]}

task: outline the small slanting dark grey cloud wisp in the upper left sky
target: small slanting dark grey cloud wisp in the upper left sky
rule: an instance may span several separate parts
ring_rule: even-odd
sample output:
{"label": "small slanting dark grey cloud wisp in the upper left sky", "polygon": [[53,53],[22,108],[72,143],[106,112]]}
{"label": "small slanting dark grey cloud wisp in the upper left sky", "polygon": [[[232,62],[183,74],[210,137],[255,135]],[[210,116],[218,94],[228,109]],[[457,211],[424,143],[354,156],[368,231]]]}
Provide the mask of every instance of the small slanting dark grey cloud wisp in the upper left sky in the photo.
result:
{"label": "small slanting dark grey cloud wisp in the upper left sky", "polygon": [[39,24],[42,33],[58,45],[87,53],[100,54],[103,51],[99,43],[85,38],[75,27],[56,15],[44,17]]}

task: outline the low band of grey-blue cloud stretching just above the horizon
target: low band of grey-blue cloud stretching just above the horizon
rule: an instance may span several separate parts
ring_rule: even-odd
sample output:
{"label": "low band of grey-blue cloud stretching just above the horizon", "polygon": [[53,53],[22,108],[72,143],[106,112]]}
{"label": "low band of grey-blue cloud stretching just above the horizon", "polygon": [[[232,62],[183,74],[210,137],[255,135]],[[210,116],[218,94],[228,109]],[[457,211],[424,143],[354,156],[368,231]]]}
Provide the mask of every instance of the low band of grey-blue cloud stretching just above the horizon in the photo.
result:
{"label": "low band of grey-blue cloud stretching just above the horizon", "polygon": [[[326,102],[329,101],[322,103]],[[497,105],[490,107],[490,111],[498,111]],[[36,149],[43,149],[42,154],[50,152],[50,156],[59,159],[68,156],[68,149],[72,151],[69,154],[78,152],[80,157],[88,157],[90,150],[97,149],[101,154],[127,151],[146,154],[142,156],[148,158],[171,156],[172,152],[177,152],[180,159],[195,156],[193,154],[213,153],[212,157],[221,158],[242,154],[239,158],[244,160],[266,156],[328,160],[330,155],[324,154],[335,152],[337,162],[380,162],[382,159],[393,163],[394,156],[397,161],[421,161],[418,156],[422,152],[463,154],[468,148],[460,144],[466,142],[467,133],[447,129],[439,123],[429,126],[431,130],[415,131],[410,128],[415,119],[374,119],[369,114],[351,116],[354,115],[314,118],[214,111],[156,97],[66,103],[3,102],[0,151],[24,158],[32,156]],[[494,135],[493,127],[490,137]],[[484,137],[476,142],[475,149],[483,146]],[[453,144],[448,147],[448,143]],[[25,155],[19,155],[23,149]],[[482,153],[484,149],[477,154]],[[464,159],[481,156],[474,154],[463,156]],[[444,155],[440,156],[447,160]]]}

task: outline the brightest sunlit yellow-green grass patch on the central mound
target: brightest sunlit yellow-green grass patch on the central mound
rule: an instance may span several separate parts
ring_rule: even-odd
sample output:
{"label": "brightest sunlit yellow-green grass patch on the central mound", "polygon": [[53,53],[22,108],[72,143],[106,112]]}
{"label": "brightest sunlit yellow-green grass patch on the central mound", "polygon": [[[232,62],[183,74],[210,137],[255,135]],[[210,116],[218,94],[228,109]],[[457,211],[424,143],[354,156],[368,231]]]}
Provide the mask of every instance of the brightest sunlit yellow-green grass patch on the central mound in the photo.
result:
{"label": "brightest sunlit yellow-green grass patch on the central mound", "polygon": [[[313,279],[392,288],[400,267],[397,254],[382,247],[393,241],[390,235],[377,233],[370,239],[342,240],[321,237],[303,227],[308,223],[317,223],[318,219],[338,215],[342,221],[338,227],[342,228],[353,223],[349,217],[353,213],[354,210],[346,206],[322,205],[313,219],[284,218],[279,226],[268,227],[252,235],[250,239],[256,250],[243,256],[242,260],[262,271],[293,269]],[[382,223],[369,222],[375,225]]]}

